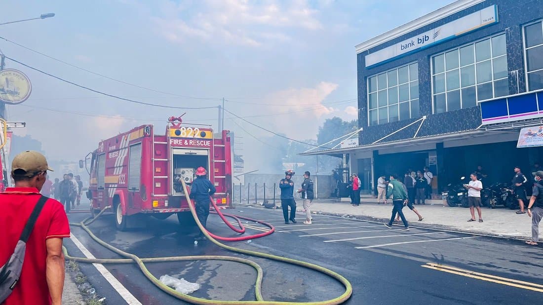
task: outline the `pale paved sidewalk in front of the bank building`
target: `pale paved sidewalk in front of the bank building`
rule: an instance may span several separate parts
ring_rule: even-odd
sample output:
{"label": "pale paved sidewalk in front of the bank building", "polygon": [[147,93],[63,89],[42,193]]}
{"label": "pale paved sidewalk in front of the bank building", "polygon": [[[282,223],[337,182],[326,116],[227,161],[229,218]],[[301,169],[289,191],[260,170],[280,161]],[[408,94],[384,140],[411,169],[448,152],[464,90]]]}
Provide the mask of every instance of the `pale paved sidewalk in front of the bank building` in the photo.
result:
{"label": "pale paved sidewalk in front of the bank building", "polygon": [[[378,205],[376,199],[372,198],[362,198],[361,201],[360,206],[353,207],[350,201],[315,200],[312,204],[312,211],[364,217],[380,222],[390,220],[391,204]],[[468,223],[467,220],[471,218],[469,208],[444,206],[443,200],[427,201],[433,202],[433,205],[428,203],[415,205],[416,210],[424,217],[422,221],[418,221],[416,214],[408,207],[403,208],[403,214],[410,225],[516,239],[529,239],[532,236],[532,218],[527,214],[515,214],[516,211],[509,208],[482,207],[484,223],[477,221]],[[297,210],[301,212],[301,204],[298,206]],[[299,215],[302,216],[302,214]],[[477,210],[475,218],[478,219]],[[315,223],[317,222],[315,221]]]}

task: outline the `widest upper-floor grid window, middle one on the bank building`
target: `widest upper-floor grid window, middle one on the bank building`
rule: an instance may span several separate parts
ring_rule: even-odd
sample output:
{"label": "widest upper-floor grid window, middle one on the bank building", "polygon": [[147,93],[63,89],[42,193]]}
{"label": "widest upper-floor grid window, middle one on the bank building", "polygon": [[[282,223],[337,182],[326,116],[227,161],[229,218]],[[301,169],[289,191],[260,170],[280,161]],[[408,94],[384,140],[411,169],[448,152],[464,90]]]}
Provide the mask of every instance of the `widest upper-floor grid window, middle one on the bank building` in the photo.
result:
{"label": "widest upper-floor grid window, middle one on the bank building", "polygon": [[432,56],[434,113],[509,94],[505,34]]}

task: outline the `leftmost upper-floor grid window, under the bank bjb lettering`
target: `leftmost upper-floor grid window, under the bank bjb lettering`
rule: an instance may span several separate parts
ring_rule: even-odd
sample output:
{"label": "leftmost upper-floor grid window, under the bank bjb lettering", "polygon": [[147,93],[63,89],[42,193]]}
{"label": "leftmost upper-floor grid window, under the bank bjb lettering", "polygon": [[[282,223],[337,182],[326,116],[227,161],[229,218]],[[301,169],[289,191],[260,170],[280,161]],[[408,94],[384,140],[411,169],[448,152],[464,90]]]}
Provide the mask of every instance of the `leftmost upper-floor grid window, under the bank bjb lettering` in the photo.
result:
{"label": "leftmost upper-floor grid window, under the bank bjb lettering", "polygon": [[418,63],[368,78],[370,126],[416,117],[419,117]]}

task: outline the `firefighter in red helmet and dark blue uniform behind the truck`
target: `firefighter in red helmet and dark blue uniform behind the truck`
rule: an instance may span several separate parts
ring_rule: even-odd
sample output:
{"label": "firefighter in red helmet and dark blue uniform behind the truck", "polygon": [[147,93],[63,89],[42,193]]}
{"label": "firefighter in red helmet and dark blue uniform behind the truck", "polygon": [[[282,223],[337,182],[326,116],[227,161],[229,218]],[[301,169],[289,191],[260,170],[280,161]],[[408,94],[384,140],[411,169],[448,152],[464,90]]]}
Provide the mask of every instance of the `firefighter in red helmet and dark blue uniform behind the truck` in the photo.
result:
{"label": "firefighter in red helmet and dark blue uniform behind the truck", "polygon": [[[210,196],[217,192],[217,189],[213,186],[213,183],[209,181],[205,176],[207,171],[203,167],[196,169],[196,179],[192,182],[190,198],[196,200],[196,214],[198,220],[205,228],[207,224],[207,217],[209,216]],[[200,232],[196,240],[206,239],[203,232]]]}

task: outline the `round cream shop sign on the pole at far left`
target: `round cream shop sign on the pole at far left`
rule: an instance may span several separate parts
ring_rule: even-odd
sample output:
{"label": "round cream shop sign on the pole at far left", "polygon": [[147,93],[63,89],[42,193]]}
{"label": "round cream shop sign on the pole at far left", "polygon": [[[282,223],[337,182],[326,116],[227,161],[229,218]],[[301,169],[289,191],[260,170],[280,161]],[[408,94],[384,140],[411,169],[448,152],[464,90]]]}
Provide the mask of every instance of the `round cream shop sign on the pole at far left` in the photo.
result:
{"label": "round cream shop sign on the pole at far left", "polygon": [[27,100],[32,92],[32,84],[27,75],[15,69],[0,71],[0,101],[16,105]]}

